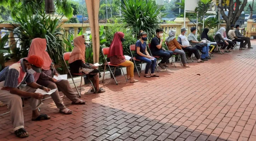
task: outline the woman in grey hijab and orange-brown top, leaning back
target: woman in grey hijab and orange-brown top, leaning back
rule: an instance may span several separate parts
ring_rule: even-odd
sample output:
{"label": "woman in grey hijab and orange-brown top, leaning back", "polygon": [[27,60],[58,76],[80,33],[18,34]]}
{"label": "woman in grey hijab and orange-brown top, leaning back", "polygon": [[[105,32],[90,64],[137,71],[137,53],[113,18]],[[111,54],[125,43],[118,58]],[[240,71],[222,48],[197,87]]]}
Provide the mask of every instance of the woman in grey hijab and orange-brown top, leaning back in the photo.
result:
{"label": "woman in grey hijab and orange-brown top, leaning back", "polygon": [[176,30],[171,30],[169,36],[165,39],[168,44],[168,49],[173,51],[174,54],[179,54],[181,56],[182,67],[189,68],[186,61],[186,54],[180,47],[178,41],[175,38]]}

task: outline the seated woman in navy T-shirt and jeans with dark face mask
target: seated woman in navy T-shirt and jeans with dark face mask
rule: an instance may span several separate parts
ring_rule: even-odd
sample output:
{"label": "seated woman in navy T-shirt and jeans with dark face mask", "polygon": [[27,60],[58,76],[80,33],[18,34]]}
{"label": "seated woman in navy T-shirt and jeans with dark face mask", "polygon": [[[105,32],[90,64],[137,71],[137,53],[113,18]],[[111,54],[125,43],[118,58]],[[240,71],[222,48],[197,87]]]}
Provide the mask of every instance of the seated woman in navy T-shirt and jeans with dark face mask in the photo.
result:
{"label": "seated woman in navy T-shirt and jeans with dark face mask", "polygon": [[[149,55],[147,52],[147,32],[140,31],[139,32],[140,39],[136,42],[136,59],[146,62],[145,68],[145,75],[144,77],[159,77],[159,75],[155,74],[155,66],[156,66],[156,59]],[[151,75],[148,74],[149,68],[151,66]]]}

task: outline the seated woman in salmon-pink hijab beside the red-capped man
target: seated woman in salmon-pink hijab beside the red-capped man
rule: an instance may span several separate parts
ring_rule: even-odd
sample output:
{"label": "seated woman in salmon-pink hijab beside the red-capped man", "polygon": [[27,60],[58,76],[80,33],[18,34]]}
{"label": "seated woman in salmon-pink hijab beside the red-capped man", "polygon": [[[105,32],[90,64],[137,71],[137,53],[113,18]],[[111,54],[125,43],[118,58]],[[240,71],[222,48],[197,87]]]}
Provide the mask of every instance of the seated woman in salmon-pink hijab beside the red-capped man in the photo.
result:
{"label": "seated woman in salmon-pink hijab beside the red-capped man", "polygon": [[[62,91],[63,94],[72,101],[72,104],[85,104],[85,101],[77,98],[69,85],[68,80],[58,81],[53,78],[53,75],[58,75],[58,72],[54,68],[54,64],[52,63],[49,54],[46,52],[46,39],[35,38],[32,40],[28,57],[32,55],[40,56],[44,61],[42,66],[43,72],[34,74],[35,82],[37,84],[50,88],[51,90],[58,88],[58,90]],[[62,103],[58,90],[52,93],[51,97],[57,108],[59,108],[59,112],[63,114],[72,114],[72,111],[66,108]]]}

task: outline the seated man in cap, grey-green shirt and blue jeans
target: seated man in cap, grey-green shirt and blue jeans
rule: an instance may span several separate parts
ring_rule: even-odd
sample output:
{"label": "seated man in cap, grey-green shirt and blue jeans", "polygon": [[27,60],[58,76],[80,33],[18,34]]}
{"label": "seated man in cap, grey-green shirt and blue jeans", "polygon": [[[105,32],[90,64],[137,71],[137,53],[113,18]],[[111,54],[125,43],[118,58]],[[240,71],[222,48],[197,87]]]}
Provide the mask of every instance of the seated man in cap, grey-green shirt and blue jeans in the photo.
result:
{"label": "seated man in cap, grey-green shirt and blue jeans", "polygon": [[190,44],[192,45],[192,47],[195,47],[196,49],[202,51],[201,60],[203,60],[203,61],[208,61],[208,59],[211,59],[211,58],[209,57],[209,46],[206,45],[206,46],[204,46],[204,47],[199,47],[199,46],[197,45],[197,43],[203,43],[203,41],[199,42],[199,41],[197,40],[197,37],[195,36],[196,30],[197,30],[196,27],[191,27],[191,29],[190,29],[191,33],[188,35],[188,41],[190,42]]}

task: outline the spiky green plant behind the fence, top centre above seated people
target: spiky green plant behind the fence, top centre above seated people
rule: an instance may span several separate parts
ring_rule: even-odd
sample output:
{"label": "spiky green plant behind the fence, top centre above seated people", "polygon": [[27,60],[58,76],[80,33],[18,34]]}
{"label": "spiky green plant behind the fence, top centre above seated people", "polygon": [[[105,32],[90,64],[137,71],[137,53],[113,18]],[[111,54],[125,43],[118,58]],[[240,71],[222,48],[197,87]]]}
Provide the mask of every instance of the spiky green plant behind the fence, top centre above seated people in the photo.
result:
{"label": "spiky green plant behind the fence, top centre above seated people", "polygon": [[165,15],[160,14],[162,7],[156,5],[155,0],[124,0],[121,9],[126,27],[131,27],[134,35],[138,35],[140,30],[147,32],[149,41],[159,28],[160,18]]}

